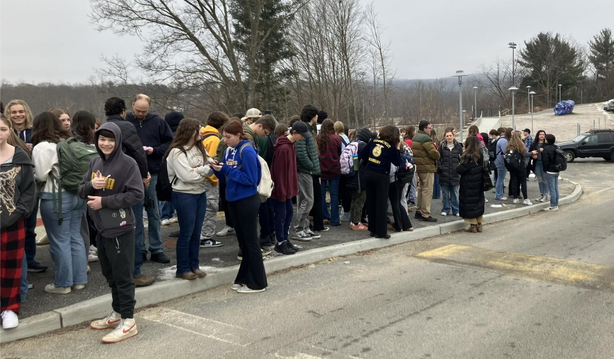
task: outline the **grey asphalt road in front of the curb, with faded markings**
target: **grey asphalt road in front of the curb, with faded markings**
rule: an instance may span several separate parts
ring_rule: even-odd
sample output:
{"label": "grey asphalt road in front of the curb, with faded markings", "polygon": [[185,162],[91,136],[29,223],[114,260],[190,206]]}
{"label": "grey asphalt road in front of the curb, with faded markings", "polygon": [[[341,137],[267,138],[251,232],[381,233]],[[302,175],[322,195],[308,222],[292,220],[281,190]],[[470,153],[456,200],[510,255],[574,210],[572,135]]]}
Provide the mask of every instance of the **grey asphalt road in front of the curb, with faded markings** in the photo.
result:
{"label": "grey asphalt road in front of the curb, with faded markings", "polygon": [[[578,263],[569,262],[608,266],[614,276],[611,166],[570,164],[568,177],[600,179],[559,212],[274,273],[260,294],[217,287],[155,305],[136,314],[139,335],[120,344],[101,344],[106,331],[84,325],[3,344],[1,356],[612,358],[614,291],[574,284]],[[425,256],[450,244],[535,257],[514,268]],[[568,282],[528,265],[556,259],[552,273],[568,269]]]}

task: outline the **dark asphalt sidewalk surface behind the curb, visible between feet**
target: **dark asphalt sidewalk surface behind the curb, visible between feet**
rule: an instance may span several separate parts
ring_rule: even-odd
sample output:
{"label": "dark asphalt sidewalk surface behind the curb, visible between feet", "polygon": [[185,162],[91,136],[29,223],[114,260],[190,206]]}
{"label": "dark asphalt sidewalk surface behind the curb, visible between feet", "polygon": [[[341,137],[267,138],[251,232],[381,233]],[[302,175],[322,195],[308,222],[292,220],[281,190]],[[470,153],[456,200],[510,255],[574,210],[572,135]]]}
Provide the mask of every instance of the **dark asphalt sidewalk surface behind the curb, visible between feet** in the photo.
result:
{"label": "dark asphalt sidewalk surface behind the curb, visible between feet", "polygon": [[[607,164],[609,165],[611,163]],[[529,180],[528,190],[529,198],[531,198],[531,200],[535,200],[535,198],[540,197],[537,182]],[[567,196],[569,193],[572,193],[573,190],[574,186],[569,182],[560,182],[561,197]],[[511,199],[503,202],[495,201],[494,193],[492,192],[487,193],[487,199],[489,199],[489,202],[485,207],[487,214],[522,207],[522,205],[513,205]],[[490,207],[490,205],[501,205],[502,203],[505,205],[505,207]],[[455,216],[441,216],[441,207],[441,200],[432,200],[432,216],[437,218],[437,223],[458,221],[460,219]],[[220,213],[220,216],[223,216],[223,212]],[[414,212],[410,212],[410,220],[412,225],[414,225],[414,228],[421,228],[427,225],[436,224],[414,219]],[[221,230],[223,225],[223,220],[219,220],[217,223],[217,230]],[[348,241],[357,241],[368,238],[368,232],[354,232],[349,230],[349,222],[344,221],[338,227],[332,227],[330,225],[326,226],[329,227],[330,230],[328,232],[321,232],[321,239],[315,239],[310,242],[293,241],[293,243],[297,246],[301,246],[305,250],[308,250],[311,248],[320,248],[324,246],[331,246],[333,244],[341,244]],[[162,239],[165,243],[166,241],[173,240],[173,238],[168,237],[168,234],[175,230],[179,230],[177,223],[169,226],[162,226]],[[207,272],[210,272],[215,271],[217,268],[239,264],[239,261],[237,260],[239,245],[237,244],[235,235],[216,237],[215,239],[223,242],[223,246],[217,248],[200,248],[201,268]],[[143,264],[142,272],[148,276],[155,276],[157,280],[178,280],[175,279],[175,271],[173,268],[171,268],[176,264],[175,250],[164,248],[164,253],[166,253],[166,255],[168,255],[168,257],[171,259],[170,264],[159,264],[149,260]],[[274,257],[276,255],[281,254],[276,253],[273,250],[269,257]],[[34,285],[34,288],[29,291],[26,303],[22,304],[22,311],[21,315],[19,316],[20,318],[30,317],[32,315],[48,312],[49,310],[54,310],[57,308],[63,308],[67,305],[79,303],[81,301],[95,298],[96,296],[101,296],[103,294],[108,294],[110,292],[107,282],[100,271],[100,264],[94,262],[90,263],[91,273],[88,276],[88,285],[85,289],[81,289],[79,291],[73,290],[70,294],[49,294],[45,292],[44,288],[45,285],[53,282],[54,263],[51,255],[49,254],[48,246],[37,247],[36,260],[38,260],[38,262],[41,264],[49,266],[49,269],[43,273],[29,273],[28,280]]]}

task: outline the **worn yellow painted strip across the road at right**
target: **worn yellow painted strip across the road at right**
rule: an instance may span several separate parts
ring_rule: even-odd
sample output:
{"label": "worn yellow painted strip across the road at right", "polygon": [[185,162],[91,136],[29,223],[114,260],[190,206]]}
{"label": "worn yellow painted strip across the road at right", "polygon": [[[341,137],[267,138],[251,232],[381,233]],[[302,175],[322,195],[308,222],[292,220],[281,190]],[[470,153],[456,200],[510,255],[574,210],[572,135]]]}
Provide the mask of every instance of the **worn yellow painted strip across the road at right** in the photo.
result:
{"label": "worn yellow painted strip across the road at right", "polygon": [[418,254],[417,257],[434,262],[479,266],[514,276],[561,282],[578,287],[614,290],[614,269],[599,264],[498,252],[455,244],[428,250]]}

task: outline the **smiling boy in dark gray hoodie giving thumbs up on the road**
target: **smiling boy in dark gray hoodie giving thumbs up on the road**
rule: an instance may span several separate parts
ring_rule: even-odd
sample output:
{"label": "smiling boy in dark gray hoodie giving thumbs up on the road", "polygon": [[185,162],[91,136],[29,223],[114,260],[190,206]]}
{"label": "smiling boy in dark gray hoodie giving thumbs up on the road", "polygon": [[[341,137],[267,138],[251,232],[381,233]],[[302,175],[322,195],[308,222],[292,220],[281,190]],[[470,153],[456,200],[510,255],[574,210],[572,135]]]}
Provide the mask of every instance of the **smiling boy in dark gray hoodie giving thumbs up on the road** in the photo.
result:
{"label": "smiling boy in dark gray hoodie giving thumbs up on the road", "polygon": [[98,258],[111,287],[113,311],[93,321],[93,329],[115,328],[102,338],[116,343],[138,332],[134,322],[134,212],[145,196],[139,166],[122,152],[118,125],[107,122],[94,134],[99,157],[90,162],[79,184],[79,197],[88,200],[88,212],[98,230]]}

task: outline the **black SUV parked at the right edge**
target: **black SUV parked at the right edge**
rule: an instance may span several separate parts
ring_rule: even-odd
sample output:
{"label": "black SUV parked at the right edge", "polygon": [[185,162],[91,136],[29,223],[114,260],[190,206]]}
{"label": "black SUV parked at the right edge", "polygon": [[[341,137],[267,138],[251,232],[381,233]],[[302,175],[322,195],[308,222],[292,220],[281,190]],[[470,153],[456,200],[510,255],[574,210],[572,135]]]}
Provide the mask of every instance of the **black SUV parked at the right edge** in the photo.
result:
{"label": "black SUV parked at the right edge", "polygon": [[556,145],[565,151],[567,162],[573,162],[576,157],[602,157],[606,161],[614,161],[614,131],[611,129],[591,129],[572,141]]}

